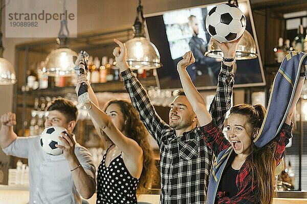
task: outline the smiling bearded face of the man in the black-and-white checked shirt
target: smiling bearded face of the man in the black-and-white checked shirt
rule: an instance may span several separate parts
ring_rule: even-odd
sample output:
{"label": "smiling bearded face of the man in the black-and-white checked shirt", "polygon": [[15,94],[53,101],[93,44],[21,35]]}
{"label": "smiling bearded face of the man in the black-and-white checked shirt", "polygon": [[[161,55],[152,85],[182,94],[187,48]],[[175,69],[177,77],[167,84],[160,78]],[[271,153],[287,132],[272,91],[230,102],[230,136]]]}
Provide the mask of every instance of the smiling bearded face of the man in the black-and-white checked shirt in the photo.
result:
{"label": "smiling bearded face of the man in the black-and-white checked shirt", "polygon": [[169,126],[175,130],[190,131],[196,126],[195,113],[186,96],[177,96],[170,105]]}

